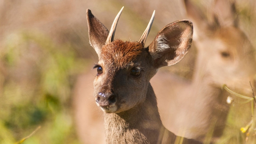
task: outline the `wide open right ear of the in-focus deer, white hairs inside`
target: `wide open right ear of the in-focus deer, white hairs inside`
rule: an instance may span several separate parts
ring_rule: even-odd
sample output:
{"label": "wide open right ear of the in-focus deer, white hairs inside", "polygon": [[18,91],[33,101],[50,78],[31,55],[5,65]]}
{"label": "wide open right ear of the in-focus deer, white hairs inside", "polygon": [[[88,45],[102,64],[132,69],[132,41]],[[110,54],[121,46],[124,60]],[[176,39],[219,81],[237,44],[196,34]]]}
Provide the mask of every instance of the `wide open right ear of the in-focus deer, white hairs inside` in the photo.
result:
{"label": "wide open right ear of the in-focus deer, white hairs inside", "polygon": [[171,23],[160,30],[149,45],[154,66],[174,65],[189,51],[193,37],[193,24],[189,20]]}

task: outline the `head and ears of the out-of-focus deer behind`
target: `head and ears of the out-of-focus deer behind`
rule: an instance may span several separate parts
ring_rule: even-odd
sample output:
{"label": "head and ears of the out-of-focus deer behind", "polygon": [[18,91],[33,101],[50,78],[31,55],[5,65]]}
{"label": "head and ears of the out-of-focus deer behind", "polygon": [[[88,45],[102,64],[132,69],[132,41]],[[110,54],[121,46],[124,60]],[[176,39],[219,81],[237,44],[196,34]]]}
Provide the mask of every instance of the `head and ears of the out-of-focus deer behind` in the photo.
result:
{"label": "head and ears of the out-of-focus deer behind", "polygon": [[198,50],[198,65],[212,83],[250,91],[254,83],[256,61],[254,48],[238,28],[235,5],[215,0],[208,18],[189,1],[185,1],[187,14],[195,25],[194,44]]}

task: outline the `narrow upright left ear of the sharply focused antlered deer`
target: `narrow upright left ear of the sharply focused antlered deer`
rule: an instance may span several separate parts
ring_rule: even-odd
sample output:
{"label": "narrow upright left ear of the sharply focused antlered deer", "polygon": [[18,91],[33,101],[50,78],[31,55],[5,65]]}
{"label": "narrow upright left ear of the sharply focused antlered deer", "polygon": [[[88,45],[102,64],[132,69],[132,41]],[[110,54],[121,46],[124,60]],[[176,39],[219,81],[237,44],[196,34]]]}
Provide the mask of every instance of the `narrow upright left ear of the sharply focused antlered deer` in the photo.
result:
{"label": "narrow upright left ear of the sharply focused antlered deer", "polygon": [[108,37],[108,29],[87,9],[87,23],[89,30],[89,40],[98,56],[101,53],[101,47],[105,45]]}

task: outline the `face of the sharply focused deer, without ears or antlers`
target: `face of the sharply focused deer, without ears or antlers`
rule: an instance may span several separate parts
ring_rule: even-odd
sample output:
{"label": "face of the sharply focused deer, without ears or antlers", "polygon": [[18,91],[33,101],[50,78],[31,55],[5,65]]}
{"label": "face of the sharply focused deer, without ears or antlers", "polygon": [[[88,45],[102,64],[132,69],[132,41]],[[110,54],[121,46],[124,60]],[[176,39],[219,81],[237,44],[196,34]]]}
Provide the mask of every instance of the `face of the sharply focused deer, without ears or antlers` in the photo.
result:
{"label": "face of the sharply focused deer, without ears or antlers", "polygon": [[94,97],[103,111],[126,111],[145,100],[149,80],[155,74],[148,67],[149,56],[138,42],[115,40],[102,47],[95,65]]}

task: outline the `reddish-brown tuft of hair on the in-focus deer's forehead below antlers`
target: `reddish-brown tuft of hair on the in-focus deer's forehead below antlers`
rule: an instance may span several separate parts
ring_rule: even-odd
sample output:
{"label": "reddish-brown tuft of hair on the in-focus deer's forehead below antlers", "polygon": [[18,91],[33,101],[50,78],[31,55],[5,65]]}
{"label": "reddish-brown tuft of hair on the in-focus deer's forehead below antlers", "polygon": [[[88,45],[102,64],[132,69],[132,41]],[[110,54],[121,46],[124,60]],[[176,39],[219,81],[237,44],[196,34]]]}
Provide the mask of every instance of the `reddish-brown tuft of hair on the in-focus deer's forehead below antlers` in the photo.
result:
{"label": "reddish-brown tuft of hair on the in-focus deer's forehead below antlers", "polygon": [[101,49],[101,58],[105,65],[124,68],[131,65],[144,51],[141,43],[136,41],[114,40]]}

